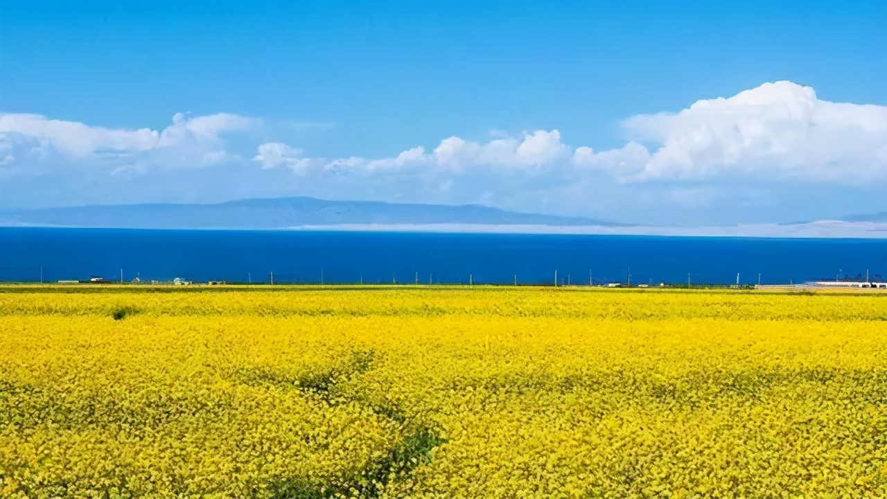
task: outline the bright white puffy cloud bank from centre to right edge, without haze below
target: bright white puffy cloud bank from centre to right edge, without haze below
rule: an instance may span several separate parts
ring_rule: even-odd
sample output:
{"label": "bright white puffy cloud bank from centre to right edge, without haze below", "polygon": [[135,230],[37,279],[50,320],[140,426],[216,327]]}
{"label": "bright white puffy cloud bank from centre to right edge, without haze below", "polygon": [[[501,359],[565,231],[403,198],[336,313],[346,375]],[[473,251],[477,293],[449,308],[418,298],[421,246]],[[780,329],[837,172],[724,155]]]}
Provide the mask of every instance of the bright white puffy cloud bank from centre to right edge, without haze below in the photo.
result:
{"label": "bright white puffy cloud bank from centre to right edge, without haze below", "polygon": [[427,175],[595,172],[620,183],[717,182],[718,177],[778,183],[865,185],[887,180],[887,107],[835,103],[791,82],[765,83],[730,98],[703,99],[678,113],[636,115],[621,123],[623,147],[575,150],[557,130],[488,142],[443,139],[431,152],[415,147],[389,158],[346,157],[324,170]]}

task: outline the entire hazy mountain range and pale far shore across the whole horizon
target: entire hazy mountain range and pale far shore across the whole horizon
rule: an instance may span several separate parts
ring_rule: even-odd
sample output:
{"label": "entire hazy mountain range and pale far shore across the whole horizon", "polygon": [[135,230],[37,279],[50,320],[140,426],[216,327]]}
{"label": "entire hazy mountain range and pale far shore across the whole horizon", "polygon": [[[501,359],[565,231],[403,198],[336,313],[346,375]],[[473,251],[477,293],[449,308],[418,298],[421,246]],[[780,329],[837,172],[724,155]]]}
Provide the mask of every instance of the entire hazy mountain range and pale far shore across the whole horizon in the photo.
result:
{"label": "entire hazy mountain range and pale far shore across the whole horizon", "polygon": [[887,237],[887,211],[794,224],[669,227],[518,213],[476,204],[444,206],[287,197],[217,204],[120,204],[0,210],[0,226],[883,239]]}

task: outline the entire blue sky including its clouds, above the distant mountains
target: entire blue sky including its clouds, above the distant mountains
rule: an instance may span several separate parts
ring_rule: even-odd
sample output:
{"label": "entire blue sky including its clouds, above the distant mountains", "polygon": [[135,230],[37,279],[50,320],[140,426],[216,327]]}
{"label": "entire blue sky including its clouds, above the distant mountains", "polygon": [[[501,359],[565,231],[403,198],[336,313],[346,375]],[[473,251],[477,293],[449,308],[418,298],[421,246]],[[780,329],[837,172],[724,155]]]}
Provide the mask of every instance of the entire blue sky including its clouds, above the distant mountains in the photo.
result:
{"label": "entire blue sky including its clouds, above the distant mountains", "polygon": [[[671,224],[887,210],[884,2],[0,0],[0,15],[0,208],[314,195]],[[761,87],[775,82],[791,86]]]}

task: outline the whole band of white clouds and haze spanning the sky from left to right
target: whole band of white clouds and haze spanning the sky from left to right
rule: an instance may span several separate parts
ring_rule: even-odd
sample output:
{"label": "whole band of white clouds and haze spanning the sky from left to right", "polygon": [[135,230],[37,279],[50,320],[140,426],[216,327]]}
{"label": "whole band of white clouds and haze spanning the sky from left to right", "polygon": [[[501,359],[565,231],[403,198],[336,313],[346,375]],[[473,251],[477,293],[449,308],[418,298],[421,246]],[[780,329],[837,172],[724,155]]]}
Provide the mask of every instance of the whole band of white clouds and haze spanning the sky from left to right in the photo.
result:
{"label": "whole band of white clouds and haze spanning the sky from left to right", "polygon": [[[852,198],[862,200],[862,208],[851,209],[842,198],[829,201],[834,210],[865,212],[877,202],[866,200],[887,191],[887,107],[829,102],[796,83],[765,83],[620,124],[629,140],[604,150],[571,147],[558,130],[493,131],[486,140],[451,136],[367,158],[312,155],[309,145],[293,139],[260,142],[255,131],[268,135],[268,123],[224,113],[177,114],[158,130],[0,113],[0,207],[54,195],[20,194],[35,188],[67,193],[72,182],[81,188],[71,196],[93,192],[90,186],[125,192],[136,175],[140,188],[155,184],[153,197],[126,201],[170,201],[175,196],[166,193],[180,192],[176,182],[192,193],[201,184],[197,178],[211,175],[206,188],[222,197],[482,202],[603,218],[612,209],[636,220],[648,212],[665,216],[664,206],[768,213],[779,203],[774,196],[803,200],[836,184],[858,188]],[[214,170],[188,168],[195,166]],[[874,197],[868,195],[873,190]],[[202,199],[193,195],[189,201]]]}

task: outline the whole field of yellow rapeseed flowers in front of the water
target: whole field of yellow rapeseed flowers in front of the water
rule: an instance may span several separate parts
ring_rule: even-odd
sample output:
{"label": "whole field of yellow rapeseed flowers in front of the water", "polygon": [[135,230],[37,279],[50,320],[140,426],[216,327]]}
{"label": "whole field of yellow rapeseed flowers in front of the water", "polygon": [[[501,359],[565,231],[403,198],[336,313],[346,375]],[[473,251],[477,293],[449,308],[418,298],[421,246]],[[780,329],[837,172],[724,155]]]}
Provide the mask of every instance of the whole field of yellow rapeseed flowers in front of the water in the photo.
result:
{"label": "whole field of yellow rapeseed flowers in front of the water", "polygon": [[887,294],[0,289],[2,497],[887,497]]}

